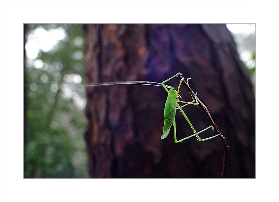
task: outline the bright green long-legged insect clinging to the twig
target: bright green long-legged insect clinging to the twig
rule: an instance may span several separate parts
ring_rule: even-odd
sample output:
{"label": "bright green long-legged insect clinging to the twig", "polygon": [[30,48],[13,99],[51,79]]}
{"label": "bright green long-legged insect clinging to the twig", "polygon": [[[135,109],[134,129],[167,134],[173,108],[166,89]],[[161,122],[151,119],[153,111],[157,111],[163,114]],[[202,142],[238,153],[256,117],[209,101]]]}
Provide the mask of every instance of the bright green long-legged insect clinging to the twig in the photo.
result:
{"label": "bright green long-legged insect clinging to the twig", "polygon": [[[211,138],[215,138],[215,137],[221,135],[221,134],[217,134],[217,135],[214,135],[214,136],[209,137],[209,138],[204,138],[204,139],[200,138],[200,136],[198,134],[202,133],[203,131],[205,131],[205,130],[207,130],[209,128],[212,128],[212,130],[214,130],[214,127],[212,125],[210,125],[207,128],[205,128],[205,129],[203,129],[203,130],[201,130],[199,132],[196,132],[196,130],[194,129],[193,125],[191,124],[191,122],[189,121],[188,117],[186,116],[185,112],[182,109],[183,107],[187,106],[188,104],[194,104],[194,105],[198,105],[199,104],[198,101],[197,101],[197,93],[195,94],[195,101],[196,102],[195,101],[192,101],[192,102],[180,101],[178,98],[181,98],[181,97],[179,96],[178,93],[179,93],[179,89],[180,89],[181,83],[183,81],[183,77],[182,77],[182,79],[179,82],[177,91],[172,86],[168,86],[168,87],[170,87],[170,90],[168,90],[166,85],[164,84],[165,82],[169,81],[170,79],[176,77],[179,74],[181,74],[181,73],[178,72],[173,77],[170,77],[169,79],[167,79],[167,80],[165,80],[165,81],[163,81],[161,83],[161,85],[164,87],[164,89],[168,92],[168,97],[167,97],[167,100],[166,100],[165,110],[164,110],[165,121],[164,121],[164,127],[163,127],[163,135],[162,135],[161,139],[166,138],[166,136],[169,134],[171,125],[173,125],[173,128],[174,128],[175,143],[182,142],[182,141],[184,141],[186,139],[189,139],[191,137],[194,137],[194,136],[196,136],[199,141],[205,141],[205,140],[209,140]],[[183,105],[183,106],[180,106],[178,104],[178,102],[186,103],[186,104]],[[190,136],[188,136],[186,138],[183,138],[181,140],[177,140],[177,138],[176,138],[175,112],[176,112],[177,109],[179,109],[181,111],[181,113],[185,117],[186,121],[191,126],[192,130],[194,131],[194,134],[192,134],[192,135],[190,135]],[[223,135],[221,135],[221,136],[223,137]]]}

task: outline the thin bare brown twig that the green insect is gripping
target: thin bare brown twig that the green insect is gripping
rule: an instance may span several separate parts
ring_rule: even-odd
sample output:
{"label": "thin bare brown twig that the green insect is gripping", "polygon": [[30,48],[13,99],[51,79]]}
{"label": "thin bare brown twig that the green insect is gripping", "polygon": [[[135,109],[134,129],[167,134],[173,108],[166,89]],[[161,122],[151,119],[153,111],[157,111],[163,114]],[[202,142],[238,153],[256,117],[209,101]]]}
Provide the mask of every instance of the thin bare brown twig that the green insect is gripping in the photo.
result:
{"label": "thin bare brown twig that the green insect is gripping", "polygon": [[[178,79],[179,81],[181,81],[182,74],[180,72],[178,72],[176,74],[176,79]],[[190,79],[190,78],[188,78]],[[185,87],[185,89],[190,93],[190,95],[193,98],[196,98],[198,101],[198,105],[197,107],[200,108],[200,110],[203,112],[203,114],[206,116],[206,118],[208,119],[208,121],[214,126],[214,128],[216,129],[216,132],[219,133],[219,138],[221,140],[222,146],[223,146],[223,151],[224,151],[224,155],[223,155],[223,168],[222,168],[222,173],[221,173],[221,178],[225,178],[226,176],[226,169],[227,169],[227,159],[228,159],[228,150],[229,150],[229,146],[227,146],[227,143],[225,141],[224,136],[222,135],[221,131],[219,130],[218,126],[215,124],[215,122],[213,121],[207,107],[201,102],[201,100],[195,96],[194,91],[190,88],[189,84],[188,84],[188,79],[186,81],[184,81],[184,79],[182,80],[182,84]]]}

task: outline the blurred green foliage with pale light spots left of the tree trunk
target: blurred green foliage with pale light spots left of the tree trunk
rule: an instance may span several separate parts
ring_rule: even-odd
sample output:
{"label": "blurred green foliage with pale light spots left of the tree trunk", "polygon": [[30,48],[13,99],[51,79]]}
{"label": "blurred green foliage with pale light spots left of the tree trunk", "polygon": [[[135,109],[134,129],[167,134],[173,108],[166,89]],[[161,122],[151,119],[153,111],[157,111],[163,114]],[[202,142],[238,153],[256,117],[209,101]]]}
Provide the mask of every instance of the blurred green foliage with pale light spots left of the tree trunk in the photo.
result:
{"label": "blurred green foliage with pale light spots left of the tree trunk", "polygon": [[64,37],[37,57],[28,57],[25,45],[24,178],[88,178],[83,25],[28,24],[26,44],[36,50],[37,33],[49,39],[54,30]]}

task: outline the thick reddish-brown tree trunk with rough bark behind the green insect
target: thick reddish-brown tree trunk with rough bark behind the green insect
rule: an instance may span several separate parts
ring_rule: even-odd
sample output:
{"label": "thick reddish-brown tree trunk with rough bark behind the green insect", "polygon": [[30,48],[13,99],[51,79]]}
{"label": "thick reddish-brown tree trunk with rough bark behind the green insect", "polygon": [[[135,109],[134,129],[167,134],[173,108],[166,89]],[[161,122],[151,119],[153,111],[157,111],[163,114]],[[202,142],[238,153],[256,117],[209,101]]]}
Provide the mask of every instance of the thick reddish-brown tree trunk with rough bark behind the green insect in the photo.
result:
{"label": "thick reddish-brown tree trunk with rough bark behind the green insect", "polygon": [[[226,177],[255,178],[255,97],[225,24],[86,24],[85,34],[87,84],[191,77],[230,146]],[[178,80],[166,84],[177,88]],[[157,86],[87,88],[91,178],[220,178],[219,138],[174,143],[173,129],[160,138],[166,97]],[[197,131],[210,125],[196,106],[184,111]],[[176,125],[179,139],[193,134],[178,111]]]}

